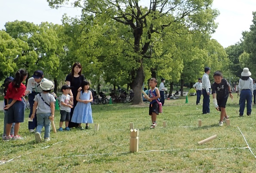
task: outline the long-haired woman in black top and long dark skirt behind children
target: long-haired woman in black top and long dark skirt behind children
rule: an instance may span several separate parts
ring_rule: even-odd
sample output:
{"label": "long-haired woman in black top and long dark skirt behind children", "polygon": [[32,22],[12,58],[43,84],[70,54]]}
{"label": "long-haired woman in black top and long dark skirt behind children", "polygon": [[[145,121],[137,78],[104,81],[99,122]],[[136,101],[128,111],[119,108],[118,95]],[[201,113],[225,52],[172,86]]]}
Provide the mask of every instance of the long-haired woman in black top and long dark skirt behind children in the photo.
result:
{"label": "long-haired woman in black top and long dark skirt behind children", "polygon": [[[81,82],[84,80],[84,76],[81,73],[82,73],[82,66],[80,63],[76,62],[72,67],[71,73],[67,75],[65,80],[68,86],[73,87],[70,90],[70,96],[73,96],[74,98],[74,105],[73,105],[73,108],[71,108],[71,112],[70,112],[70,120],[72,118],[74,108],[77,105],[77,92],[81,90]],[[69,121],[68,123],[69,128],[73,128],[77,126],[78,126],[77,123],[74,123],[71,121]]]}

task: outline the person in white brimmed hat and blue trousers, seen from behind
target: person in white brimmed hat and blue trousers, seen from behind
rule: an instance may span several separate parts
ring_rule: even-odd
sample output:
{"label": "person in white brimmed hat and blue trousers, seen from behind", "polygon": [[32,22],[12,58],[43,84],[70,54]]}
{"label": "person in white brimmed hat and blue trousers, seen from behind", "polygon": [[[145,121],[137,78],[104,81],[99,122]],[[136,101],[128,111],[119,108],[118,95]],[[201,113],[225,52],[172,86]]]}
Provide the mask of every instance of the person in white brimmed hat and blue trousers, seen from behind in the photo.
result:
{"label": "person in white brimmed hat and blue trousers, seen from behind", "polygon": [[240,95],[240,109],[239,116],[244,115],[245,101],[247,102],[247,116],[252,113],[252,98],[253,98],[253,79],[250,78],[251,72],[248,68],[244,68],[239,79],[239,95]]}

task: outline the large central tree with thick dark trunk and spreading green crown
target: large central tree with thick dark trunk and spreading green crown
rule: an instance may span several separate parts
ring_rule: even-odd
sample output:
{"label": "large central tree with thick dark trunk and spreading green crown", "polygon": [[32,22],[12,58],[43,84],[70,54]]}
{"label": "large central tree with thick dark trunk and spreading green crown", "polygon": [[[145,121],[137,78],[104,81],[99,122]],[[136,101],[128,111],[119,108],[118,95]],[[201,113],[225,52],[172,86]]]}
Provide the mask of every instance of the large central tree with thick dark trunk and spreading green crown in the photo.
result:
{"label": "large central tree with thick dark trunk and spreading green crown", "polygon": [[[50,6],[58,8],[69,0],[47,1]],[[142,8],[139,0],[77,0],[74,6],[81,7],[83,14],[93,14],[95,18],[100,18],[98,21],[101,24],[108,20],[120,22],[133,34],[133,49],[126,58],[133,60],[130,63],[130,86],[134,90],[133,103],[139,104],[142,103],[141,89],[145,79],[143,58],[152,42],[152,34],[161,34],[164,30],[175,33],[180,28],[186,28],[186,33],[191,33],[191,30],[213,30],[218,12],[211,9],[212,2],[213,0],[150,0],[149,6]]]}

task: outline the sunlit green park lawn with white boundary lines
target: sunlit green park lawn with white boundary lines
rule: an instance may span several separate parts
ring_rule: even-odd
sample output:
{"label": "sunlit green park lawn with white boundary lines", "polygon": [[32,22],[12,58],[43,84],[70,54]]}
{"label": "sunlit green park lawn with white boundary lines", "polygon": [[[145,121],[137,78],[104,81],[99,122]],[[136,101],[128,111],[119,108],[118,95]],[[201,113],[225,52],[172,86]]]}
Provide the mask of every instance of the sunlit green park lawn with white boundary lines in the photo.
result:
{"label": "sunlit green park lawn with white boundary lines", "polygon": [[[256,105],[252,116],[238,117],[238,98],[234,96],[234,101],[228,99],[226,108],[231,125],[224,123],[222,127],[212,104],[211,113],[202,115],[202,105],[195,105],[196,96],[189,96],[187,104],[185,97],[165,100],[155,129],[149,128],[148,104],[93,105],[93,120],[99,123],[99,131],[92,124],[89,130],[51,132],[48,143],[35,143],[25,121],[20,128],[24,140],[0,142],[0,161],[13,158],[0,164],[0,172],[254,172],[256,158],[246,147],[248,143],[256,154]],[[28,113],[26,110],[25,120]],[[59,128],[59,110],[55,115]],[[202,119],[202,127],[197,127],[198,119]],[[167,121],[167,128],[163,128],[163,121]],[[130,122],[139,129],[136,153],[129,152]],[[217,138],[213,141],[197,144],[214,134]]]}

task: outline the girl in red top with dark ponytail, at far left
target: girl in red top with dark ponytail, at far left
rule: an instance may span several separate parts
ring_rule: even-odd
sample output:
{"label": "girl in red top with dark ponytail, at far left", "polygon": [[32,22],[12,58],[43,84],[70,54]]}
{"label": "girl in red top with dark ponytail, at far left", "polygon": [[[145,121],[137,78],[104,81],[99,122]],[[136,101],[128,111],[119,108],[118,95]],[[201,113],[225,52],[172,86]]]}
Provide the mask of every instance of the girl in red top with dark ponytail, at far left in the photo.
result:
{"label": "girl in red top with dark ponytail, at far left", "polygon": [[[7,124],[6,124],[6,137],[4,140],[22,140],[23,138],[18,135],[20,123],[24,122],[25,116],[25,91],[26,87],[22,84],[26,80],[28,72],[26,70],[20,69],[15,74],[15,78],[8,85],[6,96],[7,99],[6,106],[4,110],[8,110]],[[14,125],[14,134],[11,136],[12,124]]]}

